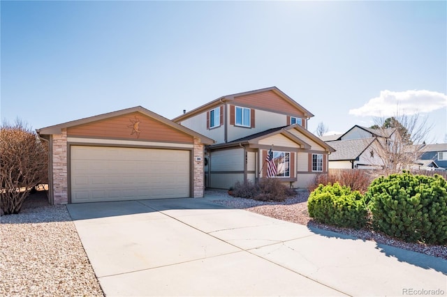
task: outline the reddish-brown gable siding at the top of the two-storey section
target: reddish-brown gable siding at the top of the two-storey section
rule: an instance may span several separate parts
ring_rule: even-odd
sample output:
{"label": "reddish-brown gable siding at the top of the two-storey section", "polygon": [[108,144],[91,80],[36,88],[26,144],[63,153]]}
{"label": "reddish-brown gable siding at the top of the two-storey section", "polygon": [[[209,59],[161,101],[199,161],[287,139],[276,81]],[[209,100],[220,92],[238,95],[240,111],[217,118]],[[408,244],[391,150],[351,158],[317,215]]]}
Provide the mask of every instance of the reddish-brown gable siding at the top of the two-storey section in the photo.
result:
{"label": "reddish-brown gable siding at the top of the two-storey section", "polygon": [[235,97],[233,101],[236,105],[247,105],[249,107],[259,107],[261,109],[270,109],[276,112],[283,112],[291,116],[302,116],[304,113],[297,107],[274,93],[274,91],[265,91],[262,93],[254,93],[245,96]]}

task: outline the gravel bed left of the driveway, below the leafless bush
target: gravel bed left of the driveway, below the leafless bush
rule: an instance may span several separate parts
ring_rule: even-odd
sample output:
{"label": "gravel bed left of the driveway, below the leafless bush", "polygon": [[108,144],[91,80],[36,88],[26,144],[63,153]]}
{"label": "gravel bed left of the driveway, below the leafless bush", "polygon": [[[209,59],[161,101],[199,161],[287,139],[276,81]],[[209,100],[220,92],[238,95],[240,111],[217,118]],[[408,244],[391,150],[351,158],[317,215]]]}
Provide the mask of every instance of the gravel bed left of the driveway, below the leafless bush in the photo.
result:
{"label": "gravel bed left of the driveway, below the leafless bush", "polygon": [[0,296],[103,296],[66,206],[39,192],[0,222]]}

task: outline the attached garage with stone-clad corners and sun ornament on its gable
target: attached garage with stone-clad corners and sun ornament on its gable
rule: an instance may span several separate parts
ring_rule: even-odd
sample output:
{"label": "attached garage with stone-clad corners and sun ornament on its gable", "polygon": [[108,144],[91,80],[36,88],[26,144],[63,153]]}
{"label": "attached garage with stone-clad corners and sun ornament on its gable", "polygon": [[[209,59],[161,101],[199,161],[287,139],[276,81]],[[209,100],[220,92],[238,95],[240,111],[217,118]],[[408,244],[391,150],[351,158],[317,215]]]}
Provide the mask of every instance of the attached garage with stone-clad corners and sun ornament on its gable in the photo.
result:
{"label": "attached garage with stone-clad corners and sun ornament on its gable", "polygon": [[49,144],[51,204],[203,197],[214,141],[143,107],[37,130]]}

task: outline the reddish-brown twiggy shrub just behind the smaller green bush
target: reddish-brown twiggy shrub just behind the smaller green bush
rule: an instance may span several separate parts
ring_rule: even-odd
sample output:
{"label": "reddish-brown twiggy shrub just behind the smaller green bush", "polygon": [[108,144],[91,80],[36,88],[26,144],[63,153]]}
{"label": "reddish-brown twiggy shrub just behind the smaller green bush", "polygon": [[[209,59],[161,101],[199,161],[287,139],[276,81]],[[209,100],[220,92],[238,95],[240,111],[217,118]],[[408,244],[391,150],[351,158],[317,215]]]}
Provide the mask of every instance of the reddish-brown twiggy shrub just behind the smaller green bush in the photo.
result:
{"label": "reddish-brown twiggy shrub just behind the smaller green bush", "polygon": [[339,169],[331,170],[328,174],[318,174],[310,185],[310,190],[315,190],[318,185],[339,183],[346,185],[352,190],[365,193],[372,182],[372,174],[366,169]]}

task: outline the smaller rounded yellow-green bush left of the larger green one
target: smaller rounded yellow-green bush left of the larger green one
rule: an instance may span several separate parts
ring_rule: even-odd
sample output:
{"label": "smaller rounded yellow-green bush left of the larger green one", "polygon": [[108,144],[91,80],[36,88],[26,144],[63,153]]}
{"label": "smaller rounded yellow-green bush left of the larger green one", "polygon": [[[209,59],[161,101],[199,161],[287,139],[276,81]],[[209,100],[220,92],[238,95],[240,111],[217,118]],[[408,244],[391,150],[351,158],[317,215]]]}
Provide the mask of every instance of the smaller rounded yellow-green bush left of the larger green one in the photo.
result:
{"label": "smaller rounded yellow-green bush left of the larger green one", "polygon": [[307,210],[323,224],[360,229],[367,223],[364,197],[339,183],[318,185],[309,195]]}

